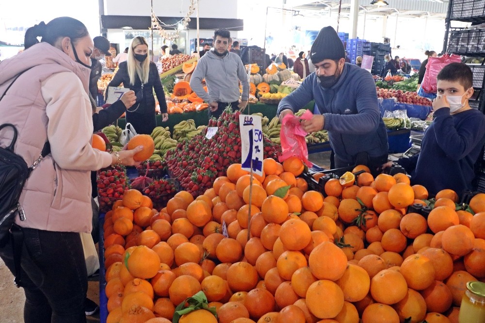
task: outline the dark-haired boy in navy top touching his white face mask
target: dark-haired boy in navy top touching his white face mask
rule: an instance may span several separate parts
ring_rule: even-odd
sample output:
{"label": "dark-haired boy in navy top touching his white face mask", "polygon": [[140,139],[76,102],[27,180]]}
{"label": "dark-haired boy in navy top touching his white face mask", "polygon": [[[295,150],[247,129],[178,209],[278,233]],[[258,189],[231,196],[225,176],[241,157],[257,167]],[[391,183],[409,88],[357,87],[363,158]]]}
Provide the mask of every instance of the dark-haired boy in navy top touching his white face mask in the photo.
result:
{"label": "dark-haired boy in navy top touching his white face mask", "polygon": [[461,196],[472,189],[474,164],[485,144],[485,116],[468,103],[473,95],[469,66],[446,65],[436,79],[435,118],[424,133],[421,152],[398,163],[411,173],[411,184],[425,186],[430,194],[452,189]]}

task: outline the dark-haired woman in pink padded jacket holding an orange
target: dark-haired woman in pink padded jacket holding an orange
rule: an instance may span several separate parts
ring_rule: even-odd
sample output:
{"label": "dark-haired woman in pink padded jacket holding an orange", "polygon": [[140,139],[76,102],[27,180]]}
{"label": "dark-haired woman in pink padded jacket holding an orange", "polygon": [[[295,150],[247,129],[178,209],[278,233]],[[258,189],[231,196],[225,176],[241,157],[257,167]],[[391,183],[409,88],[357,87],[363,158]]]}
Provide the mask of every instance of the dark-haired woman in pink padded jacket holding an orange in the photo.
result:
{"label": "dark-haired woman in pink padded jacket holding an orange", "polygon": [[[47,141],[50,153],[32,171],[19,199],[25,220],[16,220],[23,236],[16,274],[25,292],[24,322],[85,323],[88,284],[80,232],[92,229],[89,173],[137,165],[133,155],[143,147],[110,154],[91,146],[94,44],[81,21],[54,18],[29,28],[25,38],[35,45],[0,64],[0,93],[25,72],[0,101],[0,123],[16,127],[15,152],[28,165]],[[3,129],[0,144],[8,145],[12,135],[13,130]],[[0,248],[0,257],[15,273],[11,241]]]}

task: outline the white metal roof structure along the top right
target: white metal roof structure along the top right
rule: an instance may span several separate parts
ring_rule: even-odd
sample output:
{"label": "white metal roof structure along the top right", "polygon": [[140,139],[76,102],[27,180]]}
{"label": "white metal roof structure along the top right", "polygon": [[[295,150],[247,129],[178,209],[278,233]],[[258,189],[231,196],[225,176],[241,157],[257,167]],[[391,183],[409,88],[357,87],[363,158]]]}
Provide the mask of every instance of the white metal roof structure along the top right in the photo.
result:
{"label": "white metal roof structure along the top right", "polygon": [[[359,0],[359,12],[367,15],[399,15],[410,17],[446,18],[448,0],[386,0],[388,5],[375,6],[372,0]],[[339,0],[286,0],[285,7],[304,16],[333,16],[339,11]],[[340,15],[350,15],[351,0],[341,0]]]}

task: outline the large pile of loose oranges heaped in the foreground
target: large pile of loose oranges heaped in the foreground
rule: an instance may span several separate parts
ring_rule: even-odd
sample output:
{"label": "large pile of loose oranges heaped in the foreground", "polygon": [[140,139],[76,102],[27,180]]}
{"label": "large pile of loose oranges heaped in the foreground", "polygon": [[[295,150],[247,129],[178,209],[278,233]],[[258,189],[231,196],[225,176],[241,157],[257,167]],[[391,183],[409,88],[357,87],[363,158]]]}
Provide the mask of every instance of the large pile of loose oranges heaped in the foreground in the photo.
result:
{"label": "large pile of loose oranges heaped in the foreground", "polygon": [[425,218],[406,213],[428,192],[404,174],[357,166],[366,172],[328,180],[323,195],[303,167],[266,159],[250,187],[233,164],[162,210],[128,191],[104,224],[107,322],[171,322],[199,291],[217,319],[198,310],[180,322],[458,322],[466,283],[485,279],[485,194],[473,215],[443,190]]}

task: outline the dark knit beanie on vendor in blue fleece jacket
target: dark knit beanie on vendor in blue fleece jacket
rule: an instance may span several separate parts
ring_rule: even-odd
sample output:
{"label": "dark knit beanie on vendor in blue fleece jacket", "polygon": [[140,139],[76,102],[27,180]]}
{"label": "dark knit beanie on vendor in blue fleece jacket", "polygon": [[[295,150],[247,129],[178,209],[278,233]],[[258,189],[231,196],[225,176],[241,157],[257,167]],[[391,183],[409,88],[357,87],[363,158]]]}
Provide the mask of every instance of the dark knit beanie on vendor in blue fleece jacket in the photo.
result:
{"label": "dark knit beanie on vendor in blue fleece jacket", "polygon": [[339,35],[331,26],[320,30],[310,49],[312,63],[319,63],[325,59],[338,60],[345,58],[345,49]]}

